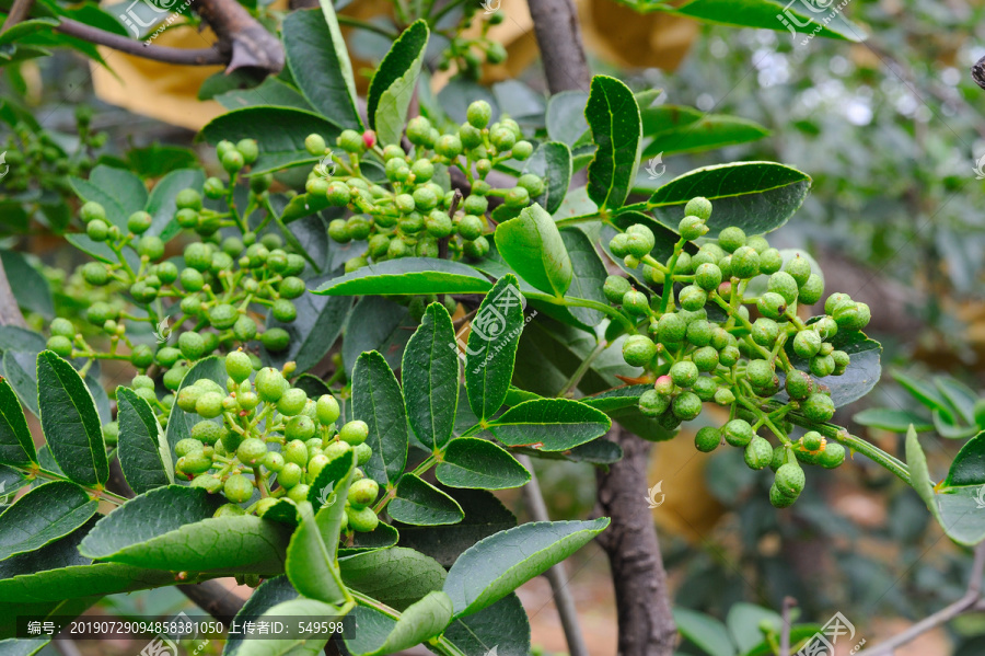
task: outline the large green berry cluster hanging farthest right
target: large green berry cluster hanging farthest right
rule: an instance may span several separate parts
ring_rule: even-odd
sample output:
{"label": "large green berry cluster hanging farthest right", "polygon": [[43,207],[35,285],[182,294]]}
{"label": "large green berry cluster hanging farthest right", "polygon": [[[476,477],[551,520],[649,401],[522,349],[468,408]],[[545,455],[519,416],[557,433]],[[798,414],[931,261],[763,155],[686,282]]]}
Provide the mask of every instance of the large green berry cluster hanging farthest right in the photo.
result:
{"label": "large green berry cluster hanging farthest right", "polygon": [[[787,419],[792,415],[787,415],[796,413],[809,425],[832,418],[834,403],[815,378],[847,370],[849,355],[831,339],[839,331],[864,329],[869,308],[848,295],[833,294],[823,315],[802,321],[798,306],[814,304],[824,294],[824,283],[807,258],[795,256],[785,263],[766,239],[748,237],[738,227],[725,228],[717,241],[690,253],[688,242],[708,232],[711,204],[693,198],[685,215],[679,226],[681,239],[667,262],[650,255],[656,238],[642,225],[630,226],[610,243],[628,268],[641,264],[644,280],[662,288],[648,297],[621,276],[610,276],[604,285],[605,297],[646,333],[630,335],[623,345],[626,362],[644,367],[654,380],[653,389],[640,396],[640,412],[675,430],[696,418],[705,402],[729,407],[731,419],[723,427],[698,430],[697,448],[711,451],[722,440],[744,448],[750,468],[776,471],[773,504],[789,506],[803,488],[799,463],[834,468],[844,461],[845,450],[816,430],[791,439],[793,425]],[[748,295],[758,276],[765,278],[762,291]],[[675,289],[675,284],[683,287]],[[760,314],[755,320],[751,308]],[[795,366],[798,359],[810,373]],[[764,410],[765,400],[781,390],[789,401],[778,410]],[[774,448],[760,437],[760,429],[772,433],[779,445]]]}

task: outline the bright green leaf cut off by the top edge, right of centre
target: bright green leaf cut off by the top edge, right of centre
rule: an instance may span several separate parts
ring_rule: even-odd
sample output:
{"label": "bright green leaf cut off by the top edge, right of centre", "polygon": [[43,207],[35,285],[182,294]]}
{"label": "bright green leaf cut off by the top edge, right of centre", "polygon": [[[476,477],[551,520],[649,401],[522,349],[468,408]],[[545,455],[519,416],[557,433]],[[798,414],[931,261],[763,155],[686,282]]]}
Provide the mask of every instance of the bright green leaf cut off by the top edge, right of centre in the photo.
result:
{"label": "bright green leaf cut off by the top edge, right of centre", "polygon": [[[638,2],[630,0],[630,4],[653,5],[652,0]],[[807,5],[807,3],[804,3]],[[671,11],[661,8],[662,11]],[[800,34],[814,34],[827,38],[860,42],[865,41],[865,33],[860,27],[845,19],[839,10],[834,7],[822,10],[804,11],[800,5],[789,3],[783,5],[770,0],[692,0],[671,13],[684,15],[707,23],[734,25],[738,27],[760,27],[790,31]],[[807,37],[796,37],[793,42],[804,45]]]}

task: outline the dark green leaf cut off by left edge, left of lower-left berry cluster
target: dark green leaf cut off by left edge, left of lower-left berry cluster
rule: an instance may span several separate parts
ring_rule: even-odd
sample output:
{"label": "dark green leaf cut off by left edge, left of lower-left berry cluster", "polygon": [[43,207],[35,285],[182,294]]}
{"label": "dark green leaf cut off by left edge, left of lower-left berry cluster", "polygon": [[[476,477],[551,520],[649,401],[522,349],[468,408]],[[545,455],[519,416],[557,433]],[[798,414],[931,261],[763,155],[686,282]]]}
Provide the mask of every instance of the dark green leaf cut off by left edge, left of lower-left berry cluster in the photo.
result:
{"label": "dark green leaf cut off by left edge, left of lower-left berry cluster", "polygon": [[95,515],[99,502],[67,481],[32,488],[0,514],[0,561],[40,549]]}

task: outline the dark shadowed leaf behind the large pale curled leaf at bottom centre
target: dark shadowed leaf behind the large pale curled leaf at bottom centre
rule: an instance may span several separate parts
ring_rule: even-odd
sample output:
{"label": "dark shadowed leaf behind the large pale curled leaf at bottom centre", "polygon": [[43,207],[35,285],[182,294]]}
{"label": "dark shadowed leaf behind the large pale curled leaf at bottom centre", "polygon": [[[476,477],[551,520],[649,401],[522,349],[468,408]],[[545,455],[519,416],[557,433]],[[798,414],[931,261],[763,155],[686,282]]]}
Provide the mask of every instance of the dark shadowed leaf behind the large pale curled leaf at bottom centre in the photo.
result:
{"label": "dark shadowed leaf behind the large pale curled leaf at bottom centre", "polygon": [[442,566],[451,567],[466,549],[479,540],[517,526],[517,518],[491,492],[443,491],[462,507],[465,519],[447,526],[399,525],[402,546],[409,546],[431,556]]}

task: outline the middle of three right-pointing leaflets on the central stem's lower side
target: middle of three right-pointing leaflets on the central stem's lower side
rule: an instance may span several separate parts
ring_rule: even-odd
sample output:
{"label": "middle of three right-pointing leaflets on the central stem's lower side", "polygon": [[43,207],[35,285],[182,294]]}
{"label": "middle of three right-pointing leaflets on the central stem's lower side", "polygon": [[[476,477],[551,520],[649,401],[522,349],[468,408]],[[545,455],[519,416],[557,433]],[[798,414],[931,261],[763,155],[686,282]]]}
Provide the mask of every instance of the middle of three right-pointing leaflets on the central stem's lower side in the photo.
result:
{"label": "middle of three right-pointing leaflets on the central stem's lower side", "polygon": [[507,490],[530,481],[530,472],[493,442],[459,437],[449,442],[434,476],[449,487]]}

